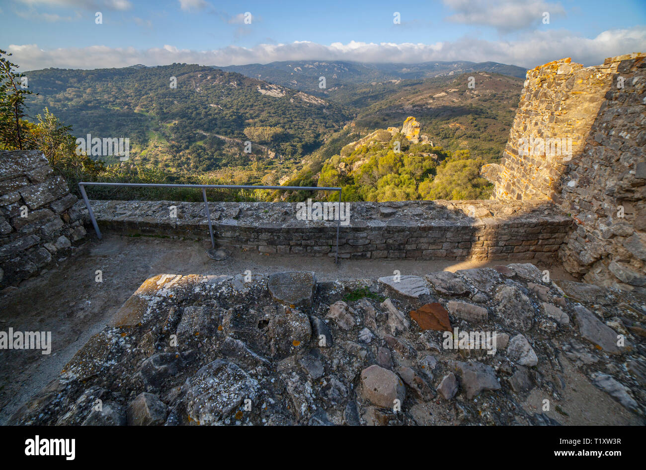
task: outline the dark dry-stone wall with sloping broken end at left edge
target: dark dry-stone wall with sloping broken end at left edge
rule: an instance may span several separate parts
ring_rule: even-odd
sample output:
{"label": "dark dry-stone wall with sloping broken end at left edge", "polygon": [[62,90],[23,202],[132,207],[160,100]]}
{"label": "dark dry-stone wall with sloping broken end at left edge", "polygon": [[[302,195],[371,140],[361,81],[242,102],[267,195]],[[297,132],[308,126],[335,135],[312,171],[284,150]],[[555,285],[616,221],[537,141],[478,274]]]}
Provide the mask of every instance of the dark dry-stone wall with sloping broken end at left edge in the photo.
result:
{"label": "dark dry-stone wall with sloping broken end at left edge", "polygon": [[33,276],[85,236],[65,179],[36,150],[0,151],[0,288]]}

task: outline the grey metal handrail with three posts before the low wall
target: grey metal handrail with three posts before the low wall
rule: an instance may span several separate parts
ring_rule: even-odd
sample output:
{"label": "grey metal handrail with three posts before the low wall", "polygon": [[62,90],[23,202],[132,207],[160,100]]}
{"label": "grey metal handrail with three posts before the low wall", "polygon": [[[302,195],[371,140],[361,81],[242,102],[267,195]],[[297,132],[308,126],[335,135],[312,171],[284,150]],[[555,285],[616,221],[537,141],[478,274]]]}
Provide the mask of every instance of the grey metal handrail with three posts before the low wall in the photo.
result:
{"label": "grey metal handrail with three posts before the low wall", "polygon": [[206,198],[207,189],[273,189],[273,190],[309,190],[309,191],[338,191],[339,192],[339,217],[337,218],[337,251],[335,255],[335,263],[339,263],[339,228],[341,221],[341,188],[328,188],[328,187],[315,187],[315,186],[236,186],[236,185],[171,185],[164,183],[90,183],[87,181],[81,181],[79,183],[79,189],[81,190],[81,196],[83,196],[83,201],[85,201],[85,207],[87,207],[88,212],[90,213],[90,219],[92,220],[92,225],[94,226],[94,231],[96,236],[101,240],[103,236],[101,235],[101,230],[99,230],[99,225],[96,223],[96,218],[94,218],[94,212],[92,212],[92,207],[90,207],[90,200],[85,194],[85,186],[127,186],[127,187],[163,187],[163,188],[202,188],[202,197],[204,199],[204,207],[206,212],[206,218],[209,222],[209,234],[211,234],[211,247],[215,249],[215,240],[213,238],[213,225],[211,224],[211,210],[209,210],[209,201]]}

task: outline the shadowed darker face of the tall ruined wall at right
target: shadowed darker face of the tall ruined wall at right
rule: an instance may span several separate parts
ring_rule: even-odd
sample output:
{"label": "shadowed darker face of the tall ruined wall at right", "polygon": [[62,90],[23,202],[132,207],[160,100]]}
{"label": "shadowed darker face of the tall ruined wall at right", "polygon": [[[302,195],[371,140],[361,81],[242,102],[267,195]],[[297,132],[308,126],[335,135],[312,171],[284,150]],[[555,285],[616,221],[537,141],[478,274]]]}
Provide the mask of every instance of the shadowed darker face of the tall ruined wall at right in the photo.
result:
{"label": "shadowed darker face of the tall ruined wall at right", "polygon": [[646,61],[604,66],[613,86],[562,178],[559,205],[576,225],[559,257],[587,282],[646,292]]}

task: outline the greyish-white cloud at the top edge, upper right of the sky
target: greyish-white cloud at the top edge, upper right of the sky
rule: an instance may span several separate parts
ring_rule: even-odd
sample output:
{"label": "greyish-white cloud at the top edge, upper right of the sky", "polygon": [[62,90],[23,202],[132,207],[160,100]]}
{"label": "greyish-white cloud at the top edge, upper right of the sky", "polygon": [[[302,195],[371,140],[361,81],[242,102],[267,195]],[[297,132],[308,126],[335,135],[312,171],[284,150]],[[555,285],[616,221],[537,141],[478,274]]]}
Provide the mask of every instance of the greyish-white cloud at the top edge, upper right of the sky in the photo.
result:
{"label": "greyish-white cloud at the top edge, upper right of the sky", "polygon": [[543,12],[550,14],[550,21],[565,14],[559,3],[542,0],[444,0],[444,5],[455,10],[448,21],[493,26],[500,32],[542,25]]}

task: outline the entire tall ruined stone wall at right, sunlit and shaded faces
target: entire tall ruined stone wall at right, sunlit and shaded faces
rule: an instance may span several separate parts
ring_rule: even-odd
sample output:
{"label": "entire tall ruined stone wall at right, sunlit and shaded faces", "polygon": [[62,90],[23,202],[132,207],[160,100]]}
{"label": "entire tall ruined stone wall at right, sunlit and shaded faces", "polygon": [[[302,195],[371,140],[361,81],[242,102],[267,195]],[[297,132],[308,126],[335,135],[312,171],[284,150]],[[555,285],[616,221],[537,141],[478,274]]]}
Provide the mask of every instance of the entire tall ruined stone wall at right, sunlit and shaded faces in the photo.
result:
{"label": "entire tall ruined stone wall at right, sunlit and shaded faces", "polygon": [[[529,70],[505,158],[481,171],[494,198],[556,203],[572,217],[559,251],[565,269],[628,290],[646,285],[645,58],[593,67],[563,59]],[[571,156],[531,145],[519,154],[523,138],[571,139]]]}

